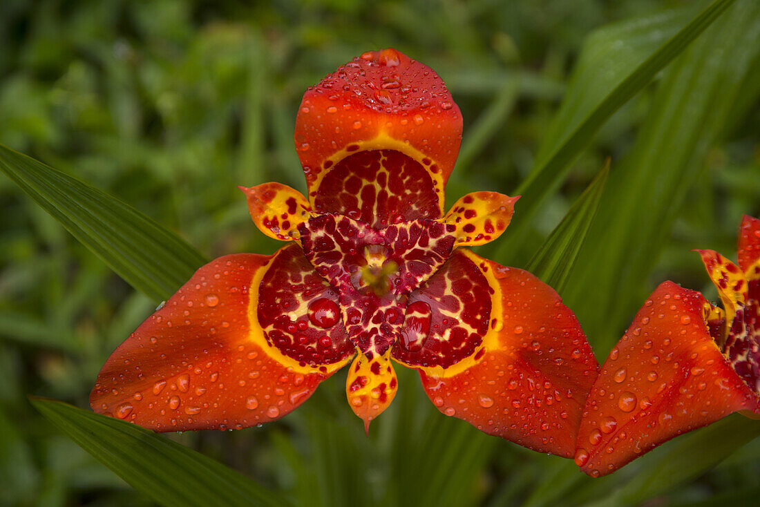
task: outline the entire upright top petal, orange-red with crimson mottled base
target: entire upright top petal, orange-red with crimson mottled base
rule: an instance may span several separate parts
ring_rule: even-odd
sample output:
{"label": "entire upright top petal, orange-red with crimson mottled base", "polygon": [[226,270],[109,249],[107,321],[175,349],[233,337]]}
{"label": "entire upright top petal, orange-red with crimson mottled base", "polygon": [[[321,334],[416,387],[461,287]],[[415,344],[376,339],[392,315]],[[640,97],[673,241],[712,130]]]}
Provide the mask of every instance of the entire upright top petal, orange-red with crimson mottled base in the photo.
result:
{"label": "entire upright top petal, orange-red with crimson mottled base", "polygon": [[435,71],[395,49],[366,52],[304,93],[295,140],[309,200],[375,225],[439,218],[461,132]]}

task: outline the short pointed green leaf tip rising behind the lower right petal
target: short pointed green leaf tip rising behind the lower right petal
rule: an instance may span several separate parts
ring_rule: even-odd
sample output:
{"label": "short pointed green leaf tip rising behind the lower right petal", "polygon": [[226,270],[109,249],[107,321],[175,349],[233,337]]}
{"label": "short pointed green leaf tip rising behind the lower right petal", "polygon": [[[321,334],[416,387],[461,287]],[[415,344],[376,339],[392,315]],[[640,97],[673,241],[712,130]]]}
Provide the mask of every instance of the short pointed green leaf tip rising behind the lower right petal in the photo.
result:
{"label": "short pointed green leaf tip rising behind the lower right petal", "polygon": [[562,293],[565,288],[572,265],[578,258],[588,230],[591,229],[609,175],[608,159],[594,181],[588,185],[578,201],[575,201],[562,222],[554,228],[527,264],[528,271],[554,287],[558,293]]}

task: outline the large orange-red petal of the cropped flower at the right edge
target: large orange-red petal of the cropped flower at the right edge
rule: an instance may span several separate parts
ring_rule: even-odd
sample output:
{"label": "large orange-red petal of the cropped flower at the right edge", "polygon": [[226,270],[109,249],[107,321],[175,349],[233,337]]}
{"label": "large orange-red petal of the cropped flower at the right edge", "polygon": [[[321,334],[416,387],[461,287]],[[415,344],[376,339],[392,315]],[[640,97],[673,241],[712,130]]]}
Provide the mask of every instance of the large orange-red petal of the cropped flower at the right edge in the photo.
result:
{"label": "large orange-red petal of the cropped flower at the right edge", "polygon": [[588,395],[575,462],[610,474],[681,433],[758,399],[712,340],[705,298],[660,284],[610,352]]}

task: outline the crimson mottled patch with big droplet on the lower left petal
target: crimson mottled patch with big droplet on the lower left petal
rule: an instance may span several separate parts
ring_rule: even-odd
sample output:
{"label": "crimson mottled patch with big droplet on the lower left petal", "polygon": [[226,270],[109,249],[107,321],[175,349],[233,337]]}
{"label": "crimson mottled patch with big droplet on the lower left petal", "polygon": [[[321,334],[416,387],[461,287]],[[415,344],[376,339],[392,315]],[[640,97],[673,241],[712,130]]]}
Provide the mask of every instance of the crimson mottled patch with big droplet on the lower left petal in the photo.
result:
{"label": "crimson mottled patch with big droplet on the lower left petal", "polygon": [[[313,312],[318,316],[312,315],[311,306],[320,310]],[[258,291],[258,322],[267,341],[299,363],[343,360],[353,353],[353,345],[337,309],[336,291],[315,274],[299,246],[281,249]]]}

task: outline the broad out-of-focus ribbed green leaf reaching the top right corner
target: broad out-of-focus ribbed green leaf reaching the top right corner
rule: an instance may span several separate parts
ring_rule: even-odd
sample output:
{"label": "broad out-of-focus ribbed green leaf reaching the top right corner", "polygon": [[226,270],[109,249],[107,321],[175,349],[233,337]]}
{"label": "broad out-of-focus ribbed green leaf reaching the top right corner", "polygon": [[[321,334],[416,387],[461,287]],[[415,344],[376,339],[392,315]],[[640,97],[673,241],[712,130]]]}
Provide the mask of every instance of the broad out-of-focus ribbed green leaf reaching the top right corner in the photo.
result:
{"label": "broad out-of-focus ribbed green leaf reaching the top right corner", "polygon": [[[662,281],[648,276],[686,213],[689,190],[705,178],[708,150],[737,121],[730,112],[758,56],[760,4],[737,2],[668,69],[635,144],[610,174],[565,294],[600,352],[613,347]],[[708,246],[692,246],[699,247]],[[698,267],[698,256],[692,261]]]}

